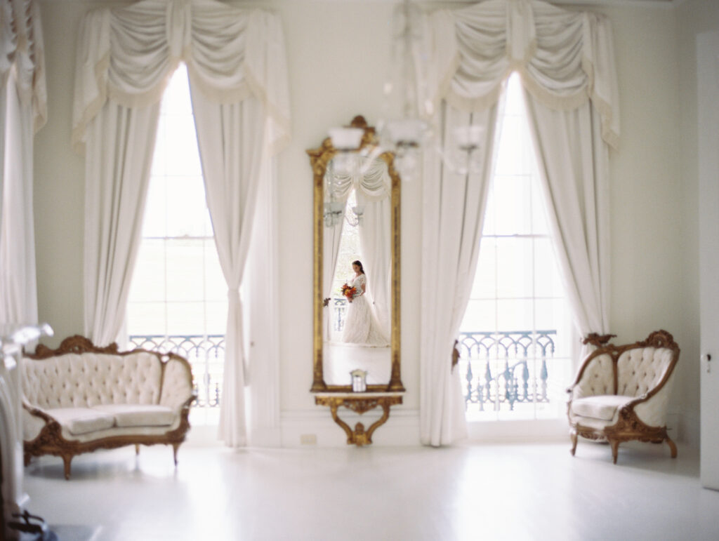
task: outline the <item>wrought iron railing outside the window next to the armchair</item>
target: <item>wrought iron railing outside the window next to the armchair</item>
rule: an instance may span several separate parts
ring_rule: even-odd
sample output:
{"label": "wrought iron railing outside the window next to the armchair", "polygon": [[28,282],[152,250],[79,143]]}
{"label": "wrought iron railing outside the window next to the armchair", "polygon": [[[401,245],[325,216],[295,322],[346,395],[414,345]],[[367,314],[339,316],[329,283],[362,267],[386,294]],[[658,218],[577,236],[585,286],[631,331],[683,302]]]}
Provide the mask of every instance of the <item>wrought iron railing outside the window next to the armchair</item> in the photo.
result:
{"label": "wrought iron railing outside the window next to the armchair", "polygon": [[556,330],[460,333],[459,369],[464,403],[491,406],[549,402],[547,359],[554,357]]}

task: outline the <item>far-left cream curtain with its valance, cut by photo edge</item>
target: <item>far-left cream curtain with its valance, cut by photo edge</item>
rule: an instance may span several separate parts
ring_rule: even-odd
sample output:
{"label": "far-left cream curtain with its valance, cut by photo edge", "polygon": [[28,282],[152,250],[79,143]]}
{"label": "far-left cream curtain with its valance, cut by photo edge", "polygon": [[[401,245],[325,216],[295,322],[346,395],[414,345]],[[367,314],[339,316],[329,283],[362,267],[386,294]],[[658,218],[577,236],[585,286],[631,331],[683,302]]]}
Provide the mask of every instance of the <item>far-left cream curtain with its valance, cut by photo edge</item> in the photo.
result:
{"label": "far-left cream curtain with its valance, cut by photo edge", "polygon": [[37,323],[33,137],[47,119],[34,0],[0,0],[0,323]]}

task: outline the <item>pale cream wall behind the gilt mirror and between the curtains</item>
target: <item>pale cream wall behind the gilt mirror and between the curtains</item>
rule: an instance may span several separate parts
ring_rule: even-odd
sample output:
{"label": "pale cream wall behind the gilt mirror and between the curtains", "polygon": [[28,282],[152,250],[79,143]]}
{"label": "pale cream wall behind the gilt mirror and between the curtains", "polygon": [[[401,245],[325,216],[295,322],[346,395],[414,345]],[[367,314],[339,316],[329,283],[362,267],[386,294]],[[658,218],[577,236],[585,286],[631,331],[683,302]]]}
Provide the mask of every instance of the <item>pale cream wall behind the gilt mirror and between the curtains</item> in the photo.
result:
{"label": "pale cream wall behind the gilt mirror and between the curtains", "polygon": [[[40,319],[55,328],[54,343],[83,327],[83,165],[69,140],[75,29],[90,5],[96,4],[41,0],[49,120],[36,142],[35,220]],[[278,172],[279,277],[290,290],[281,297],[278,330],[283,443],[297,445],[298,434],[318,433],[321,445],[341,445],[342,431],[308,393],[313,237],[305,150],[318,146],[329,126],[347,123],[355,114],[364,114],[370,123],[377,120],[392,5],[366,0],[262,5],[273,7],[283,20],[293,114],[293,140],[280,156]],[[681,121],[677,10],[637,4],[597,9],[614,24],[622,115],[620,149],[610,163],[612,329],[622,341],[644,338],[657,328],[674,333],[682,359],[673,408],[682,426],[687,419],[691,425],[697,405],[688,397],[697,394],[698,381],[687,360],[698,339],[697,232],[693,218],[682,216],[695,210],[696,197],[690,202],[687,194],[695,192],[696,175],[680,175],[679,151],[686,138],[676,129]],[[376,443],[417,441],[421,218],[415,187],[403,189],[402,372],[408,392],[403,407],[393,409],[388,425],[375,433]]]}

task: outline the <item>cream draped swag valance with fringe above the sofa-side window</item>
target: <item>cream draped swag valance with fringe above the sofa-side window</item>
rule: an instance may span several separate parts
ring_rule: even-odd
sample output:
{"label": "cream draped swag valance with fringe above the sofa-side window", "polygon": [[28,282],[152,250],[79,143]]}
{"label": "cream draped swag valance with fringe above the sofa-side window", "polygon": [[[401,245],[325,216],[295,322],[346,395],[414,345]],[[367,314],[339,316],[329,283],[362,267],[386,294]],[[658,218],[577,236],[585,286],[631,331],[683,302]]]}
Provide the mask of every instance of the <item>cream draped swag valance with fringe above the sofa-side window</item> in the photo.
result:
{"label": "cream draped swag valance with fringe above the sofa-side window", "polygon": [[142,0],[101,8],[83,19],[78,41],[73,149],[107,100],[157,103],[180,61],[193,88],[216,103],[255,96],[265,106],[267,149],[288,142],[290,111],[280,21],[262,9],[215,0]]}

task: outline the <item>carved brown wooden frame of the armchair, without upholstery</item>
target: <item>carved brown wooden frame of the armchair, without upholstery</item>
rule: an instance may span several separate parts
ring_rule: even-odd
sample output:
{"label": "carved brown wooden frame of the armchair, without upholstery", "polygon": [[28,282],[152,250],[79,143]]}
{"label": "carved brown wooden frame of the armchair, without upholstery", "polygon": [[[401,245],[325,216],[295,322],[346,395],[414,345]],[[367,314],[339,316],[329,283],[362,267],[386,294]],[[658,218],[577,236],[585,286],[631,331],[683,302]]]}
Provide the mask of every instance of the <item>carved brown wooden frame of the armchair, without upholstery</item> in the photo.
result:
{"label": "carved brown wooden frame of the armchair, without upholstery", "polygon": [[[592,351],[592,353],[587,356],[580,367],[579,372],[577,372],[577,377],[574,379],[574,383],[567,389],[567,392],[569,393],[567,416],[569,417],[569,436],[572,439],[572,456],[574,456],[574,453],[577,450],[578,436],[582,436],[583,438],[588,438],[590,440],[607,440],[612,448],[612,458],[614,463],[617,463],[619,444],[630,440],[639,440],[647,443],[662,443],[666,441],[672,452],[672,458],[676,458],[677,445],[674,444],[672,438],[669,438],[669,435],[667,434],[667,426],[646,425],[639,419],[638,415],[634,411],[634,408],[637,404],[641,404],[642,402],[646,402],[651,399],[651,397],[658,393],[661,388],[667,384],[669,377],[672,376],[672,373],[674,372],[674,366],[676,366],[677,361],[679,360],[679,346],[677,346],[677,343],[674,342],[674,337],[666,330],[656,330],[651,333],[646,340],[627,344],[626,346],[614,346],[613,344],[607,343],[611,336],[613,335],[592,335],[587,337],[585,343],[591,343],[596,346],[597,349]],[[605,353],[608,353],[611,356],[614,376],[614,392],[616,393],[618,389],[617,363],[619,357],[622,353],[630,349],[646,347],[669,348],[672,350],[672,359],[669,361],[669,368],[662,377],[661,381],[656,384],[653,389],[649,389],[646,394],[643,394],[641,397],[636,397],[631,402],[628,402],[628,404],[623,405],[619,410],[619,418],[614,425],[603,427],[603,429],[597,429],[583,426],[579,422],[572,422],[572,417],[570,415],[572,410],[572,391],[581,381],[582,374],[584,374],[585,369],[589,366],[592,360]]]}

